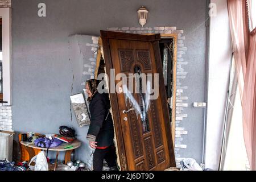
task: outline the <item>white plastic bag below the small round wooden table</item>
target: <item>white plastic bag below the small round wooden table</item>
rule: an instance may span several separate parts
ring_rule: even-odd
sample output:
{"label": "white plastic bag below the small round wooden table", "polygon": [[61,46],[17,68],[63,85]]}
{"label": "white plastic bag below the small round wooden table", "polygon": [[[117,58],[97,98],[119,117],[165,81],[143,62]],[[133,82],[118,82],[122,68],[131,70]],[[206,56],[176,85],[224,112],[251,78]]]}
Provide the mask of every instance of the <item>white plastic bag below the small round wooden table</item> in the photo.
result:
{"label": "white plastic bag below the small round wooden table", "polygon": [[[35,162],[35,167],[31,166],[31,163]],[[31,171],[48,171],[48,163],[46,159],[46,152],[41,151],[39,152],[38,155],[34,156],[31,160],[30,163],[28,164],[30,166]]]}

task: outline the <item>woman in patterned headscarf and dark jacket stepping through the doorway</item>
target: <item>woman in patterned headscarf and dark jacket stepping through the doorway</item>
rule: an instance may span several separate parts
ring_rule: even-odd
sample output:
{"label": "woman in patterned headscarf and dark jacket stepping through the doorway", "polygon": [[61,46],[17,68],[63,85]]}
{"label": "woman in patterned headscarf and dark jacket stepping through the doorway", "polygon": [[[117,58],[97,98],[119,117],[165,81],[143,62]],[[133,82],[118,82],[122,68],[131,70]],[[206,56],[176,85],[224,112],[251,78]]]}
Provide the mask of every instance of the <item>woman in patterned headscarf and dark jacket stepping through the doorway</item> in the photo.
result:
{"label": "woman in patterned headscarf and dark jacket stepping through the doorway", "polygon": [[105,159],[110,170],[117,170],[115,147],[114,147],[114,126],[112,116],[109,112],[110,101],[106,93],[98,93],[98,80],[86,81],[85,89],[90,102],[90,127],[86,138],[89,145],[95,148],[93,153],[94,171],[102,171],[103,160]]}

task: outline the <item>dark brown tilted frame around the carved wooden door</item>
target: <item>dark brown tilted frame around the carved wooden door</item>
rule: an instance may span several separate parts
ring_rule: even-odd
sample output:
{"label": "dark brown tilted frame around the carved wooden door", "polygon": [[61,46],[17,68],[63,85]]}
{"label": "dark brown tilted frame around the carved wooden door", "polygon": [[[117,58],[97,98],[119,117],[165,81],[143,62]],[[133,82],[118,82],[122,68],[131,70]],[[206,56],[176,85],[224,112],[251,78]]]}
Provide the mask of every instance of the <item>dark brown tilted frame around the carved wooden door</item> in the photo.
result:
{"label": "dark brown tilted frame around the carved wooden door", "polygon": [[[160,34],[154,34],[151,36],[148,35],[141,35],[141,34],[127,34],[123,32],[111,32],[111,31],[102,31],[101,30],[101,38],[102,38],[102,44],[108,45],[108,47],[104,46],[104,60],[105,60],[105,68],[106,73],[110,75],[110,69],[113,69],[112,65],[112,57],[110,53],[110,46],[108,39],[121,39],[121,40],[137,40],[138,38],[141,40],[144,40],[146,42],[152,42],[152,46],[154,48],[154,54],[156,59],[156,71],[158,73],[162,73],[162,63],[161,63],[161,57],[160,57],[160,49],[159,49],[159,40],[160,40]],[[156,56],[158,55],[158,56]],[[108,63],[108,64],[106,64]],[[110,83],[108,83],[110,84]],[[159,84],[164,85],[163,75],[159,74]],[[168,107],[167,101],[166,101],[166,92],[159,92],[161,101],[162,101],[162,107]],[[117,93],[110,93],[110,101],[113,110],[118,110],[118,100],[117,100]],[[121,170],[127,170],[127,159],[126,159],[126,152],[125,152],[125,144],[123,140],[123,134],[122,134],[122,126],[121,126],[121,116],[119,115],[119,112],[112,112],[114,127],[115,127],[115,137],[117,141],[117,150],[119,155],[119,162]],[[168,150],[169,150],[169,158],[170,158],[170,166],[176,167],[175,163],[175,156],[174,156],[174,144],[172,140],[172,131],[171,131],[171,125],[169,121],[168,111],[163,112],[164,117],[164,125],[166,126],[166,137],[167,137],[167,143],[168,143]]]}

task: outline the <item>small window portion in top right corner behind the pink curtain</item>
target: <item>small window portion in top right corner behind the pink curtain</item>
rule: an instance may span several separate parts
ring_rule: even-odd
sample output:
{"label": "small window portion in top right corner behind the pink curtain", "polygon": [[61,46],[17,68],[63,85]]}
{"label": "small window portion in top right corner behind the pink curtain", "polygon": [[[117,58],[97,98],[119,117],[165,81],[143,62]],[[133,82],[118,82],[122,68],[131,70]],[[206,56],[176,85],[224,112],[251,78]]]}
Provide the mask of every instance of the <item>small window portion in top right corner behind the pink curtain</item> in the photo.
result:
{"label": "small window portion in top right corner behind the pink curtain", "polygon": [[248,17],[249,17],[249,28],[250,31],[256,31],[256,1],[247,0]]}

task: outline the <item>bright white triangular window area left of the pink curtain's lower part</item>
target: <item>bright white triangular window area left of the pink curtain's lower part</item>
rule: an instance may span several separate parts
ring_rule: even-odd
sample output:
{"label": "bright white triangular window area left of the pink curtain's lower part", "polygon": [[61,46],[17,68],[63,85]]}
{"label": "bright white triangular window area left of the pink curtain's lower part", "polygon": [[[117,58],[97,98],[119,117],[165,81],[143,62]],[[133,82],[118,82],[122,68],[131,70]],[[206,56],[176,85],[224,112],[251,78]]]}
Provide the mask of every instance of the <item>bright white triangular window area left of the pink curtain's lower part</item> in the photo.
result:
{"label": "bright white triangular window area left of the pink curtain's lower part", "polygon": [[[240,90],[238,88],[236,64],[234,57],[231,67],[230,95],[227,121],[225,123],[224,146],[221,157],[220,170],[224,171],[250,171],[247,159],[245,141],[243,139],[243,118]],[[239,146],[239,147],[237,147]]]}

